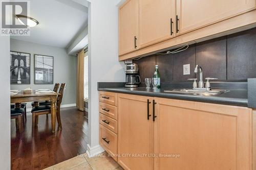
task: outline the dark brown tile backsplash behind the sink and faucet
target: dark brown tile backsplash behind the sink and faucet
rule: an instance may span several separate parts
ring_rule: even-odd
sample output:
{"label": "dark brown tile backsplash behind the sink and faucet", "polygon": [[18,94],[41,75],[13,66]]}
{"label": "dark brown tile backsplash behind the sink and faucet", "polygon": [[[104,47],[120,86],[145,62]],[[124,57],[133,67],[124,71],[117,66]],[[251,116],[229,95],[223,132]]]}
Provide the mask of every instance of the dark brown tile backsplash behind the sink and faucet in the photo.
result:
{"label": "dark brown tile backsplash behind the sink and faucet", "polygon": [[[159,65],[161,82],[199,78],[194,74],[197,64],[202,66],[204,78],[222,81],[256,78],[256,28],[189,45],[180,53],[156,54],[133,62],[139,65],[142,82],[153,77],[155,65]],[[190,75],[183,75],[183,64],[190,64]]]}

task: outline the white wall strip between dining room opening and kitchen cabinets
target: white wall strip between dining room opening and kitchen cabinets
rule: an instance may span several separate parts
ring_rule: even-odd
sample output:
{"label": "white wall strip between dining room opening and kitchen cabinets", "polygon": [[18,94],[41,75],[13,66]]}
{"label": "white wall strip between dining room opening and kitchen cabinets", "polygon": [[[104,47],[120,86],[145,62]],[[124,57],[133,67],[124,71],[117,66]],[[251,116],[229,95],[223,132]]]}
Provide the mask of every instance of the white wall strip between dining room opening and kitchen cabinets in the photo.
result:
{"label": "white wall strip between dining room opening and kitchen cabinets", "polygon": [[118,61],[118,7],[116,0],[90,0],[88,26],[89,149],[94,149],[99,144],[97,82],[125,81],[124,64]]}

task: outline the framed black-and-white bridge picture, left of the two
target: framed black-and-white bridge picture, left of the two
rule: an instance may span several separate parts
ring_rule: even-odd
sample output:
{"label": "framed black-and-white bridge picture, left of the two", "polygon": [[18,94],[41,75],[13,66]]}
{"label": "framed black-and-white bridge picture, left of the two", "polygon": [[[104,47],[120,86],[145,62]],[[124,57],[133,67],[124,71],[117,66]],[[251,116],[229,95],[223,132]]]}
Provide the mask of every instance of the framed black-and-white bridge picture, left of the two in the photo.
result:
{"label": "framed black-and-white bridge picture, left of the two", "polygon": [[30,54],[10,52],[11,84],[30,84]]}

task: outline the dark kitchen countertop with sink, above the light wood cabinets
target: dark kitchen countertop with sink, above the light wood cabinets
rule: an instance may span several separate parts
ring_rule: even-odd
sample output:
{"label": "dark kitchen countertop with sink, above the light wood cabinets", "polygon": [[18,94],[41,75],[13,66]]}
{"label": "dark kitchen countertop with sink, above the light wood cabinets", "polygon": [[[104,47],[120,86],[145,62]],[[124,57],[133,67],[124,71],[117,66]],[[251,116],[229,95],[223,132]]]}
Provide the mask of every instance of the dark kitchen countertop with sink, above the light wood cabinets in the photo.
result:
{"label": "dark kitchen countertop with sink, above the light wood cabinets", "polygon": [[145,87],[137,87],[137,88],[125,88],[118,87],[117,85],[110,86],[99,86],[99,91],[110,91],[117,93],[126,93],[126,94],[135,94],[135,95],[144,95],[144,96],[152,96],[159,98],[168,98],[168,99],[178,99],[178,100],[187,100],[187,101],[197,101],[197,102],[206,102],[206,103],[216,103],[216,104],[225,104],[225,105],[235,105],[235,106],[248,106],[248,94],[247,90],[239,89],[239,90],[231,90],[222,94],[217,95],[195,95],[191,93],[173,93],[173,92],[164,92],[164,90],[172,90],[176,88],[161,88],[154,90],[146,89]]}

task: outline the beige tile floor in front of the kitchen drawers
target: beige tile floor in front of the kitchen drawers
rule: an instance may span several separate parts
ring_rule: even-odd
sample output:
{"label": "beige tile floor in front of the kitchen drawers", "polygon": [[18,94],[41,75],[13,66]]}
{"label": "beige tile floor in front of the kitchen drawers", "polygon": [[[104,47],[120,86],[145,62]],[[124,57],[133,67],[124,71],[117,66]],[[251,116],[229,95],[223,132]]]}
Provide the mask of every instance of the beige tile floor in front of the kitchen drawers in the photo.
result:
{"label": "beige tile floor in front of the kitchen drawers", "polygon": [[95,157],[89,158],[82,154],[69,160],[60,162],[45,170],[123,170],[123,168],[110,156],[103,152]]}

